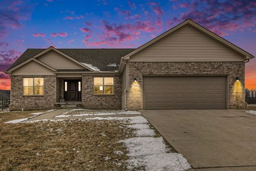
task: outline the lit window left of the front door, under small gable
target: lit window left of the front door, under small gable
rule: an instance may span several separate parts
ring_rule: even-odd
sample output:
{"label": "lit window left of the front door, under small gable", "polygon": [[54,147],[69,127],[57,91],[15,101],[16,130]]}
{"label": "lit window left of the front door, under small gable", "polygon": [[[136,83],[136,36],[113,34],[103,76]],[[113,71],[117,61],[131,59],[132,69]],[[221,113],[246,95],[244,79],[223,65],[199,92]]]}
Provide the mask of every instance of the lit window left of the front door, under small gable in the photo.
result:
{"label": "lit window left of the front door, under small gable", "polygon": [[44,78],[23,78],[23,95],[43,95]]}

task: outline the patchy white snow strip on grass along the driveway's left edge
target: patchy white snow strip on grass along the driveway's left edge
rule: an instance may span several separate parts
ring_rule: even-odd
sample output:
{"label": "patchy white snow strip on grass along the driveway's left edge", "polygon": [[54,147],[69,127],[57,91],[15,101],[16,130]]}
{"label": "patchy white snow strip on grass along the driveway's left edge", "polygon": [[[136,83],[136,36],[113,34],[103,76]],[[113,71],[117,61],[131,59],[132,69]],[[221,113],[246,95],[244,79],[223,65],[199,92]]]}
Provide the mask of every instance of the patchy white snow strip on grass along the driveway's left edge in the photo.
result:
{"label": "patchy white snow strip on grass along the driveway's left edge", "polygon": [[154,137],[155,131],[150,129],[146,118],[128,118],[132,129],[135,129],[134,138],[121,140],[129,150],[127,162],[129,169],[145,167],[146,170],[188,170],[190,165],[180,153],[171,153],[166,147],[162,136]]}

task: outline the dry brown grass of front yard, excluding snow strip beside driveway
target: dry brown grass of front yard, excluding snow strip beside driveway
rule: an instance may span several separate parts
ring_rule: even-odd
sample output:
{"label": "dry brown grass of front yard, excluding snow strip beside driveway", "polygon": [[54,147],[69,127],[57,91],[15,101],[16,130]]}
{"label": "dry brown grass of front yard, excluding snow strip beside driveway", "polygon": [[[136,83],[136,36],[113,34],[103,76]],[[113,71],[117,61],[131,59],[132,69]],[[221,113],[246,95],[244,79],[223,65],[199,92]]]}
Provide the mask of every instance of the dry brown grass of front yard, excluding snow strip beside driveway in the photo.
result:
{"label": "dry brown grass of front yard, excluding snow strip beside driveway", "polygon": [[4,115],[0,114],[0,170],[126,170],[127,151],[118,141],[130,138],[132,130],[121,121],[4,124],[29,114]]}

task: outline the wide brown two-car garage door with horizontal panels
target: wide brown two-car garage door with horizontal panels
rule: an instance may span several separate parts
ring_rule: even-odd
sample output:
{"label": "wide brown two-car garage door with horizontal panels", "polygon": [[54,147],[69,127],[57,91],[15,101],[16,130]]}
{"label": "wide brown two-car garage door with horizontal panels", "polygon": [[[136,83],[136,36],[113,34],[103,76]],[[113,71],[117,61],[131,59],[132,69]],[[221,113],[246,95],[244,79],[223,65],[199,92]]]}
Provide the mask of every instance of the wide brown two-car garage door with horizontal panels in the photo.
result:
{"label": "wide brown two-car garage door with horizontal panels", "polygon": [[226,76],[143,76],[143,109],[226,109]]}

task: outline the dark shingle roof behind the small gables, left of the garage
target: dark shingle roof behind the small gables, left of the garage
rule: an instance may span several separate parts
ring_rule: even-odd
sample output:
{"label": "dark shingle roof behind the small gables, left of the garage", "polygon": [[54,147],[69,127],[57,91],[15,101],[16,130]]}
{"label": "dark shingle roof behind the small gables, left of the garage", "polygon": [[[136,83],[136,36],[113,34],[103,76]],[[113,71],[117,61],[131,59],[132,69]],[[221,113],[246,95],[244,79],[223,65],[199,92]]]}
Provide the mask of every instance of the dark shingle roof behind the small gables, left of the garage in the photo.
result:
{"label": "dark shingle roof behind the small gables, left of the garage", "polygon": [[[46,49],[27,49],[10,67],[18,66]],[[92,64],[100,71],[117,71],[121,57],[134,49],[57,49],[78,62]],[[111,65],[111,64],[116,64]],[[7,71],[8,71],[7,70]]]}

